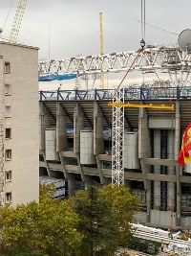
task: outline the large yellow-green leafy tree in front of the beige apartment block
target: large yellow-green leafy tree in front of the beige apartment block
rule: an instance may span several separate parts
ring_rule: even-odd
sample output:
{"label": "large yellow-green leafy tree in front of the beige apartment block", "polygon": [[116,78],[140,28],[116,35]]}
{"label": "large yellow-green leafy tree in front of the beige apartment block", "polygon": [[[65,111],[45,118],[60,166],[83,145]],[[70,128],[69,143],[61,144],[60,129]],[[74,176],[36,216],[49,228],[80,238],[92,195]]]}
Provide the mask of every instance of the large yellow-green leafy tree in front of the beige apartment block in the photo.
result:
{"label": "large yellow-green leafy tree in front of the beige apartment block", "polygon": [[0,255],[73,255],[80,245],[70,201],[43,190],[40,202],[0,208]]}

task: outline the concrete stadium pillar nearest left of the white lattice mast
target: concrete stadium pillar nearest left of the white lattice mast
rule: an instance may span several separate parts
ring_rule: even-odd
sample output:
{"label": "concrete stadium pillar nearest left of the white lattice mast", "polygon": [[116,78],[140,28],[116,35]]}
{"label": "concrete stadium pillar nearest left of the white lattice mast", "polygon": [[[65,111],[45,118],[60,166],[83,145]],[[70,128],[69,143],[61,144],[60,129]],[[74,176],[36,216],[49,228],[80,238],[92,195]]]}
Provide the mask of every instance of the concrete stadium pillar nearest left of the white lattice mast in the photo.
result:
{"label": "concrete stadium pillar nearest left of the white lattice mast", "polygon": [[96,165],[99,172],[100,182],[104,183],[104,178],[101,172],[101,162],[97,157],[97,154],[102,153],[104,150],[103,145],[103,113],[97,105],[94,103],[94,154],[96,155]]}

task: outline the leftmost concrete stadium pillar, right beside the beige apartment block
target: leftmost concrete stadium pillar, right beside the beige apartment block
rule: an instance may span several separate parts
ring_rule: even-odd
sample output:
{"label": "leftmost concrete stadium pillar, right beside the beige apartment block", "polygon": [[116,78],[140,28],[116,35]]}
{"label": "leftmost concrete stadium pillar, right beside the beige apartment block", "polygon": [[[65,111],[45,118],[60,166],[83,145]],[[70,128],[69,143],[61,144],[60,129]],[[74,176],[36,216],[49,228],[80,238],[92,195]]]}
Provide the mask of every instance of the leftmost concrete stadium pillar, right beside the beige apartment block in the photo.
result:
{"label": "leftmost concrete stadium pillar, right beside the beige apartment block", "polygon": [[40,151],[43,152],[44,161],[47,167],[47,173],[50,175],[49,164],[46,161],[45,155],[45,130],[46,128],[50,128],[50,114],[45,106],[40,103],[40,111],[39,111],[39,122],[40,122]]}

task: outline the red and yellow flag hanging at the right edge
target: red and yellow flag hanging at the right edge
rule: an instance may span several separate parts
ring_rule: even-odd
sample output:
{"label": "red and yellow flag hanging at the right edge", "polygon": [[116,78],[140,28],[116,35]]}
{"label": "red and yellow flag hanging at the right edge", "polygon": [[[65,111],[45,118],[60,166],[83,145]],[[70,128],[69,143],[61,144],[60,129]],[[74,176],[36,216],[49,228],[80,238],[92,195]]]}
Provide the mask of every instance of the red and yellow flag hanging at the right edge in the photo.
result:
{"label": "red and yellow flag hanging at the right edge", "polygon": [[178,161],[180,165],[185,165],[191,161],[191,123],[183,133]]}

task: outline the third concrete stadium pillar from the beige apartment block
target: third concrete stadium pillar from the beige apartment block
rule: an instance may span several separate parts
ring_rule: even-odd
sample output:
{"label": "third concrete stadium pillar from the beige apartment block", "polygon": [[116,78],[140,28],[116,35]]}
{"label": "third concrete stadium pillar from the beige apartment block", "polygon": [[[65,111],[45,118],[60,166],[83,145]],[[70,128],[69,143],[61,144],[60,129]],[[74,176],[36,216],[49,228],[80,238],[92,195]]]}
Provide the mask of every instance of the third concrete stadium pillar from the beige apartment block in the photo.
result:
{"label": "third concrete stadium pillar from the beige apartment block", "polygon": [[74,153],[76,154],[79,172],[82,181],[84,180],[83,170],[80,164],[80,131],[84,128],[84,115],[76,103],[74,107]]}

